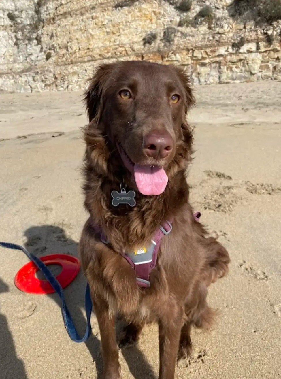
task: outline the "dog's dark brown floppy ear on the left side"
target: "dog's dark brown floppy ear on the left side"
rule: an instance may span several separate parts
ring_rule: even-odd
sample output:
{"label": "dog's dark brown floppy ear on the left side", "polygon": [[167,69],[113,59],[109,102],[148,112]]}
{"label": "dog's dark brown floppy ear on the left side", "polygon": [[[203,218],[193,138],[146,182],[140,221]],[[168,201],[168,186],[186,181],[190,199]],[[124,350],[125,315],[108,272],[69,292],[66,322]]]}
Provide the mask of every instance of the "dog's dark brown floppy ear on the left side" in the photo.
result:
{"label": "dog's dark brown floppy ear on the left side", "polygon": [[107,79],[110,77],[114,64],[103,64],[98,67],[95,75],[91,78],[90,85],[85,92],[84,102],[88,113],[89,122],[99,122],[102,113],[102,93]]}

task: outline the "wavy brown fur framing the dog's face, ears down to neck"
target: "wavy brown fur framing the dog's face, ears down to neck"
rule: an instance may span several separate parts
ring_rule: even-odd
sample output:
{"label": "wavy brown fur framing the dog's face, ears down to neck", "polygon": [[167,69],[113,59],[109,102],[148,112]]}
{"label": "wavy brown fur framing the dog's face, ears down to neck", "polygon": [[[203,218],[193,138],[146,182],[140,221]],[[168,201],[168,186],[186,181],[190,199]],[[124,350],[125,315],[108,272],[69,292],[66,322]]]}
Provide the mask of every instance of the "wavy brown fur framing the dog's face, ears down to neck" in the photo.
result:
{"label": "wavy brown fur framing the dog's face, ears down to neck", "polygon": [[[104,130],[100,128],[102,113],[102,91],[106,87],[112,65],[107,64],[98,70],[85,93],[89,124],[84,128],[86,142],[85,154],[85,207],[102,227],[116,251],[135,248],[151,239],[156,227],[166,219],[173,218],[188,198],[188,185],[185,172],[192,155],[192,130],[185,116],[194,103],[188,77],[184,71],[174,67],[184,83],[186,103],[181,125],[182,138],[177,141],[176,154],[166,170],[169,182],[163,194],[147,197],[137,193],[137,206],[126,211],[115,210],[108,199],[113,188],[119,188],[121,182],[130,186],[130,175],[122,166],[116,147],[112,147]],[[176,201],[173,201],[176,199]],[[180,199],[180,200],[178,200]],[[160,206],[159,206],[160,205]]]}

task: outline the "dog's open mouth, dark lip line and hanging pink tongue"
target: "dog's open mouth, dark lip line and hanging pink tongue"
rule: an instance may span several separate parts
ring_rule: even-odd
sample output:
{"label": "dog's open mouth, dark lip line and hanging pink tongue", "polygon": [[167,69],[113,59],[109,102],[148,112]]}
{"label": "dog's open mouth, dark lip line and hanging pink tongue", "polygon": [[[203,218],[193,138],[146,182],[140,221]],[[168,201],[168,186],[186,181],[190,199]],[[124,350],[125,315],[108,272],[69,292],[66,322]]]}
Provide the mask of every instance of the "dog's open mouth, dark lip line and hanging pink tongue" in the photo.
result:
{"label": "dog's open mouth, dark lip line and hanging pink tongue", "polygon": [[168,176],[160,166],[134,163],[120,143],[117,144],[124,166],[132,173],[138,190],[143,195],[160,195],[165,191]]}

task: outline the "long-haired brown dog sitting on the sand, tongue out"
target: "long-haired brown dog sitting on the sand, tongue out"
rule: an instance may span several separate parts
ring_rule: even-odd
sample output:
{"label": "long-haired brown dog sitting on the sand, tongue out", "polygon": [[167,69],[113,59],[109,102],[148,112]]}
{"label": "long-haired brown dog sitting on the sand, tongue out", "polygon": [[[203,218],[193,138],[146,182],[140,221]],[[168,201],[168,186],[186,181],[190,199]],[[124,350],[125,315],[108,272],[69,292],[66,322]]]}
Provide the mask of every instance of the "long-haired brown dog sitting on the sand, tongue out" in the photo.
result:
{"label": "long-haired brown dog sitting on the sand, tongue out", "polygon": [[[90,217],[80,241],[83,269],[99,323],[104,378],[119,378],[115,317],[129,325],[124,342],[137,340],[144,323],[159,323],[159,378],[174,378],[177,356],[190,354],[190,327],[212,321],[207,287],[228,271],[227,251],[207,235],[188,202],[186,169],[193,104],[184,71],[144,61],[101,66],[86,92],[85,207]],[[120,185],[136,193],[136,205],[111,204]],[[139,287],[124,259],[148,246],[163,222],[150,287]],[[104,241],[101,240],[101,231]],[[137,254],[137,253],[136,253]]]}

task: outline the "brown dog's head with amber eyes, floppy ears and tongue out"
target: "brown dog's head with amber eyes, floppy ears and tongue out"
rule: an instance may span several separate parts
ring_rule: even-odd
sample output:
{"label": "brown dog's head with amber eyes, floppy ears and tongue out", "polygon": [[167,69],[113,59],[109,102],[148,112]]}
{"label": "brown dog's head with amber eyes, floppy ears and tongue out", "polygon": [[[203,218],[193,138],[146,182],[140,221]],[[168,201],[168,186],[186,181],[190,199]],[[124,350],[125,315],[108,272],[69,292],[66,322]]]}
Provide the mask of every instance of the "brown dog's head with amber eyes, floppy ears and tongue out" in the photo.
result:
{"label": "brown dog's head with amber eyes, floppy ears and tongue out", "polygon": [[145,61],[104,64],[85,95],[88,158],[106,171],[105,161],[117,149],[142,194],[162,193],[169,175],[190,160],[186,114],[193,96],[184,71]]}

